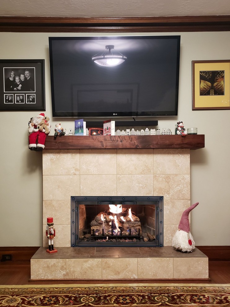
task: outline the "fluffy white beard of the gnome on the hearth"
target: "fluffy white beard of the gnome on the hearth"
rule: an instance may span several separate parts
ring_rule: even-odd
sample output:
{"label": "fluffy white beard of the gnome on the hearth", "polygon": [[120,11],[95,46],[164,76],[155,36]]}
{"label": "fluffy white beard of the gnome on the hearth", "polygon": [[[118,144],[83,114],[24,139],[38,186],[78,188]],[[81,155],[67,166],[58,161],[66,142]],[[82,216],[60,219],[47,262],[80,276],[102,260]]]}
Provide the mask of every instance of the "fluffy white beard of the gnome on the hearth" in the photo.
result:
{"label": "fluffy white beard of the gnome on the hearth", "polygon": [[[192,241],[192,245],[188,243],[188,240]],[[172,247],[178,249],[180,251],[192,251],[195,249],[195,242],[192,238],[191,232],[186,232],[184,230],[177,230],[173,239],[172,239]]]}

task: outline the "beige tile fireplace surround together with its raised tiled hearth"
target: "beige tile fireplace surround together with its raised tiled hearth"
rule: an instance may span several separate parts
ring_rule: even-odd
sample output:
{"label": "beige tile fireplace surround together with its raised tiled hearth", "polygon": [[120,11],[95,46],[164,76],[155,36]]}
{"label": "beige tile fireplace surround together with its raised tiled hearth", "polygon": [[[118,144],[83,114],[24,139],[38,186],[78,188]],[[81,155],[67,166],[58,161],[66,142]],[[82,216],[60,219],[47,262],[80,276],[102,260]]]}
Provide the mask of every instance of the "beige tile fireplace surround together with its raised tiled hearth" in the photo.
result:
{"label": "beige tile fireplace surround together with its raised tiled hearth", "polygon": [[[43,246],[31,279],[208,278],[208,257],[171,247],[190,206],[189,149],[44,150]],[[164,196],[164,247],[70,247],[71,196]],[[55,254],[46,253],[46,218],[53,216]]]}

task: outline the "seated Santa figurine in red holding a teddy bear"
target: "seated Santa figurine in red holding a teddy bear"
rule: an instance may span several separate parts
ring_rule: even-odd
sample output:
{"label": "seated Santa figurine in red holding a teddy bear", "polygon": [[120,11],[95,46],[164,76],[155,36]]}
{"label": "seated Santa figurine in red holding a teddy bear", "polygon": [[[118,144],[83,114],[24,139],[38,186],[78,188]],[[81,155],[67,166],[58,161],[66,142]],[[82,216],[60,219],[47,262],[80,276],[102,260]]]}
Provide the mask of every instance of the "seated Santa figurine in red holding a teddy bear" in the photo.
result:
{"label": "seated Santa figurine in red holding a teddy bear", "polygon": [[[32,117],[29,121],[29,149],[35,151],[41,151],[45,148],[46,136],[51,131],[51,124],[45,120],[45,125],[48,129],[39,129],[39,124],[44,121],[45,114],[40,113],[36,117]],[[48,131],[48,132],[47,132]]]}

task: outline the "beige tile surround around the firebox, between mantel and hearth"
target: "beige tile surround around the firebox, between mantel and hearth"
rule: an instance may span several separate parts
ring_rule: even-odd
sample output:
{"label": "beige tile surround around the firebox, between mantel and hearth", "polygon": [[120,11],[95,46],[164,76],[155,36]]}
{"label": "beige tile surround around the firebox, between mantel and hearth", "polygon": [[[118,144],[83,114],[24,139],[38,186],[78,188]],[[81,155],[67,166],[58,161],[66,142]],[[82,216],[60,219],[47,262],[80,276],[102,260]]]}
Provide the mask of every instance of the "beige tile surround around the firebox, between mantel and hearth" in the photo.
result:
{"label": "beige tile surround around the firebox, between mantel and hearth", "polygon": [[55,247],[70,247],[70,196],[164,196],[164,246],[190,206],[189,149],[44,150],[43,246],[53,216]]}

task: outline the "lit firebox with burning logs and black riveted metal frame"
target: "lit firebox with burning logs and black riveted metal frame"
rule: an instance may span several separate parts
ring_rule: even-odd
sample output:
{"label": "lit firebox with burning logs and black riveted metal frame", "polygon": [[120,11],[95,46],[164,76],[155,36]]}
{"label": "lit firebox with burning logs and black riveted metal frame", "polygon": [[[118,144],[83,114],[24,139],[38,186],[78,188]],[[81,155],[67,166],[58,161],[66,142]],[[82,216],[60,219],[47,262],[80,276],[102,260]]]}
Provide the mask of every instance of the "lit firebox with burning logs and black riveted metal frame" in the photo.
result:
{"label": "lit firebox with burning logs and black riveted metal frame", "polygon": [[72,196],[71,246],[163,247],[163,196]]}

